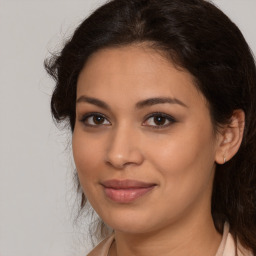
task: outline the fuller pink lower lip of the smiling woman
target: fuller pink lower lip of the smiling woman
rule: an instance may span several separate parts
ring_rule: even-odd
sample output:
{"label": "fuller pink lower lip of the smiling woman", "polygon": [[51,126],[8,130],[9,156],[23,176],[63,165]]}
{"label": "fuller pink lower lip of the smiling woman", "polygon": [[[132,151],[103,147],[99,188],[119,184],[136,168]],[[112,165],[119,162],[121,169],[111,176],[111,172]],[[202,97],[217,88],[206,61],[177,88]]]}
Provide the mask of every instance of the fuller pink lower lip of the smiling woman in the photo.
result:
{"label": "fuller pink lower lip of the smiling woman", "polygon": [[146,188],[127,188],[127,189],[113,189],[113,188],[105,187],[104,191],[106,196],[114,202],[130,203],[146,195],[154,187],[155,186],[146,187]]}

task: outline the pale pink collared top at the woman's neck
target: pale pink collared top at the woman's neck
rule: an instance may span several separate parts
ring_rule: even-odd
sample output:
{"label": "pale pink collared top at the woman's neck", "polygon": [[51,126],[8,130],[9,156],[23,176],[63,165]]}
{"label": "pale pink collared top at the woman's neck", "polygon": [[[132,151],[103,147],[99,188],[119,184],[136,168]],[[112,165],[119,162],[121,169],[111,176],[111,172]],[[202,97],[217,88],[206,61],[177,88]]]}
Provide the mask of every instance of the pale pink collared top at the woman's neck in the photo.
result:
{"label": "pale pink collared top at the woman's neck", "polygon": [[[87,256],[108,256],[109,248],[114,240],[114,235],[111,235],[99,243],[89,254],[87,254]],[[225,223],[222,240],[215,256],[253,256],[253,254],[243,248],[239,242],[236,247],[235,241],[229,233],[229,224]]]}

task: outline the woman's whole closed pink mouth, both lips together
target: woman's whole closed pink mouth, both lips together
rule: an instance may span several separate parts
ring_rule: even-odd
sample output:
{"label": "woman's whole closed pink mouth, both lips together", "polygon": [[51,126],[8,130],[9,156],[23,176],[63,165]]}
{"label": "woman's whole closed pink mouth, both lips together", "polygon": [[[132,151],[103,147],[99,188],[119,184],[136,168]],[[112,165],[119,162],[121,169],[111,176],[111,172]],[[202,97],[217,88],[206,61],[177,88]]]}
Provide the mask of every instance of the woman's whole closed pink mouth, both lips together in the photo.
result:
{"label": "woman's whole closed pink mouth, both lips together", "polygon": [[146,195],[156,186],[137,180],[107,180],[101,183],[105,195],[117,203],[130,203]]}

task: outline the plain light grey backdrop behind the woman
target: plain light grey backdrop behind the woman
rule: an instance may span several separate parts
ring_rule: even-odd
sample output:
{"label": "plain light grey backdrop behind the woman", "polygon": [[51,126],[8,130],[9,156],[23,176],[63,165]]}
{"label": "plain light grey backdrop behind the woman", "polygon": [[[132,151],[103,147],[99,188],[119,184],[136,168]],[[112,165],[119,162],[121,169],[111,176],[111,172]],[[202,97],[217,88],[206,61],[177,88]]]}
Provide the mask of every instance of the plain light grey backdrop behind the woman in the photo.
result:
{"label": "plain light grey backdrop behind the woman", "polygon": [[[103,0],[0,0],[0,256],[80,256],[70,135],[50,114],[49,51]],[[256,52],[256,1],[215,0]],[[86,221],[86,220],[85,220]],[[85,222],[86,223],[86,222]]]}

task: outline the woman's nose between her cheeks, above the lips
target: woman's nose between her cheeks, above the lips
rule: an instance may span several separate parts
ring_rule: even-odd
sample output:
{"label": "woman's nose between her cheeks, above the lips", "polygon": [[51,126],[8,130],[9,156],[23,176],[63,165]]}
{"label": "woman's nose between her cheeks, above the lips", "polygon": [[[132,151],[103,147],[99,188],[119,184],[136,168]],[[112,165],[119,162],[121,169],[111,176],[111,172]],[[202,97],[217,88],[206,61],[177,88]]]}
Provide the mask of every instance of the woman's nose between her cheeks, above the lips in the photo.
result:
{"label": "woman's nose between her cheeks, above the lips", "polygon": [[139,148],[139,135],[127,125],[112,131],[106,150],[106,163],[115,169],[142,164],[144,157]]}

